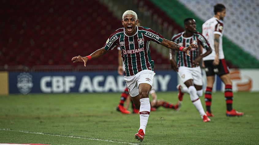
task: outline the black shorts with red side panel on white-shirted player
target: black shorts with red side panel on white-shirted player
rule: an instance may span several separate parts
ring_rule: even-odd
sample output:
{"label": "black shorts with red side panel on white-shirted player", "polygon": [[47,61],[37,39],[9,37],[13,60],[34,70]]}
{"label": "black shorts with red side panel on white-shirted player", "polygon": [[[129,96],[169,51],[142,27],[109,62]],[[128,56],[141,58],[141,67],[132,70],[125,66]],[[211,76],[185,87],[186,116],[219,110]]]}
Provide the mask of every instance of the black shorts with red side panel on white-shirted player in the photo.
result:
{"label": "black shorts with red side panel on white-shirted player", "polygon": [[222,76],[229,73],[229,68],[225,59],[219,60],[219,65],[217,66],[213,65],[213,60],[204,61],[204,65],[207,76],[213,76],[215,74]]}

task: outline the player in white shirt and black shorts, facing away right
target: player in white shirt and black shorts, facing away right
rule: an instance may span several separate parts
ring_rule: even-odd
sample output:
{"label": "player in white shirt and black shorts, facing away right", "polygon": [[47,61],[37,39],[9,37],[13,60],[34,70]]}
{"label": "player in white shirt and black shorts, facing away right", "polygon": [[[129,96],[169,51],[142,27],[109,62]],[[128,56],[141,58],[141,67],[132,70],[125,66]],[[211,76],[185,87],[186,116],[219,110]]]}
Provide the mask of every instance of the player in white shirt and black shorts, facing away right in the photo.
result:
{"label": "player in white shirt and black shorts, facing away right", "polygon": [[230,79],[229,69],[224,59],[224,53],[222,48],[222,35],[223,35],[223,22],[222,20],[226,16],[226,7],[223,4],[216,4],[214,6],[214,17],[207,20],[202,25],[202,34],[207,38],[211,44],[212,53],[203,58],[205,71],[207,75],[207,88],[205,92],[206,114],[208,116],[214,116],[211,113],[211,91],[213,83],[215,81],[215,74],[225,84],[225,99],[227,103],[227,116],[242,116],[244,113],[235,111],[232,108],[233,92],[232,82]]}

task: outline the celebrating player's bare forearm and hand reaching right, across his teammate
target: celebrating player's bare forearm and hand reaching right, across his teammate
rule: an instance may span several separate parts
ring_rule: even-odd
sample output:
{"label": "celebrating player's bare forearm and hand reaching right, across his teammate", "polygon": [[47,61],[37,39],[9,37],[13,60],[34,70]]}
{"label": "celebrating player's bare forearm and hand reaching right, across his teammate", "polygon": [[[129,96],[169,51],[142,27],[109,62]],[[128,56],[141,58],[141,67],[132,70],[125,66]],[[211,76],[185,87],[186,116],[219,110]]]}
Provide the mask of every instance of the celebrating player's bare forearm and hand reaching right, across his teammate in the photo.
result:
{"label": "celebrating player's bare forearm and hand reaching right, across his teammate", "polygon": [[188,47],[182,48],[181,45],[176,44],[176,43],[174,43],[172,41],[169,41],[169,40],[166,40],[166,39],[163,39],[163,41],[161,42],[161,45],[165,46],[166,48],[172,49],[172,50],[183,51],[188,56],[190,56],[189,55],[189,50],[191,50],[192,48],[198,48],[198,46],[195,45],[195,44],[191,44]]}

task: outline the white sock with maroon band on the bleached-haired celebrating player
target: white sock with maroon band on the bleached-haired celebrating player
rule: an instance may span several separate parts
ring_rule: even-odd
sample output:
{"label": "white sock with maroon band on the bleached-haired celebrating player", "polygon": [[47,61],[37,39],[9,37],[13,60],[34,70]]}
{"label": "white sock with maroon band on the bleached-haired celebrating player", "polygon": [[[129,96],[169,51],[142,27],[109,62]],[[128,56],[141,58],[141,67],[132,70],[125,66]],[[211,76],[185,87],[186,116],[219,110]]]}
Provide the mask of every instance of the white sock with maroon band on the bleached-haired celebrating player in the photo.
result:
{"label": "white sock with maroon band on the bleached-haired celebrating player", "polygon": [[142,98],[139,100],[140,108],[139,108],[139,118],[140,118],[140,127],[139,129],[143,129],[144,134],[146,134],[147,121],[150,113],[150,103],[149,98]]}

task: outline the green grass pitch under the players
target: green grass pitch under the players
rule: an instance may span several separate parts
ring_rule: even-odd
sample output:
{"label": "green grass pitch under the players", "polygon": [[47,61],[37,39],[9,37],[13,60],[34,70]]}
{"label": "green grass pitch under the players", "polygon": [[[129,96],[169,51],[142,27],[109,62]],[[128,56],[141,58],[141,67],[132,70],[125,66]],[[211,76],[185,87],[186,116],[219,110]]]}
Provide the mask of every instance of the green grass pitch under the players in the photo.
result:
{"label": "green grass pitch under the players", "polygon": [[[158,93],[159,99],[173,103],[177,102],[176,96],[176,92]],[[204,123],[189,95],[185,95],[180,111],[159,108],[150,113],[142,143],[134,139],[139,129],[139,115],[115,111],[119,93],[0,96],[0,143],[258,144],[258,96],[259,93],[234,93],[234,108],[245,115],[229,118],[225,115],[223,93],[213,93],[215,117]],[[201,100],[204,105],[204,98]]]}

